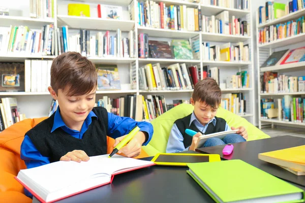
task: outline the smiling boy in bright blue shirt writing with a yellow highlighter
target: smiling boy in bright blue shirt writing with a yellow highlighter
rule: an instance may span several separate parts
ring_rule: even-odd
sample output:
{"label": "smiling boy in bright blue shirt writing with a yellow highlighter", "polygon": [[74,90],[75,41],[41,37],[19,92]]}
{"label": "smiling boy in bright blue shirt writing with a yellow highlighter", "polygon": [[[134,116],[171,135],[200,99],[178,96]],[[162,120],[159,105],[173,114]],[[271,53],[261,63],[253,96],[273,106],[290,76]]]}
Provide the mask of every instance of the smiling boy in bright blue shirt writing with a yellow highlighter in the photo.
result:
{"label": "smiling boy in bright blue shirt writing with a yellow highlighter", "polygon": [[[153,136],[153,126],[94,107],[97,88],[95,65],[77,52],[57,56],[51,66],[51,96],[58,108],[49,118],[25,133],[20,155],[27,168],[55,161],[87,161],[107,153],[106,135],[115,147],[136,125],[136,136],[118,152],[128,157],[140,154]],[[25,190],[27,196],[32,196]]]}

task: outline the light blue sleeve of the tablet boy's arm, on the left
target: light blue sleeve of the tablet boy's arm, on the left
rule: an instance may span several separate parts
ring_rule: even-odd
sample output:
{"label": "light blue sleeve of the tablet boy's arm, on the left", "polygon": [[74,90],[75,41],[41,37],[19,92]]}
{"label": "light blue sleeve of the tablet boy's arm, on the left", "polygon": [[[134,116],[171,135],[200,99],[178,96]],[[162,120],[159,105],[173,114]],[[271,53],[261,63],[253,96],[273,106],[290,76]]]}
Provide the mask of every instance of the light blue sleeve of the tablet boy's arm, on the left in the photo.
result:
{"label": "light blue sleeve of the tablet boy's arm, on the left", "polygon": [[185,148],[183,144],[183,136],[176,124],[173,125],[166,146],[166,153],[174,153],[181,151],[188,151],[189,147]]}

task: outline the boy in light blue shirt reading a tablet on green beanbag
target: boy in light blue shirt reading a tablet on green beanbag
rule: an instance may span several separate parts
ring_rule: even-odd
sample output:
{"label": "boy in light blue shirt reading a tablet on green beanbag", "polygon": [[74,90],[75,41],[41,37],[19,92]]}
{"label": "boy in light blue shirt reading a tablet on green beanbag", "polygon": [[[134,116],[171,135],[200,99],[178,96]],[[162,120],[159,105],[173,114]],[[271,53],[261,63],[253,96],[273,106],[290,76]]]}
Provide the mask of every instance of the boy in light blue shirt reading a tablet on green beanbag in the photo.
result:
{"label": "boy in light blue shirt reading a tablet on green beanbag", "polygon": [[[167,153],[195,150],[198,137],[202,134],[210,134],[221,131],[235,130],[228,126],[227,122],[216,117],[217,110],[221,103],[221,89],[217,82],[212,78],[205,78],[199,81],[194,88],[191,104],[194,112],[184,118],[175,121],[166,147]],[[186,129],[197,132],[191,137],[185,133]],[[245,142],[248,133],[245,127],[238,127],[237,134],[229,134],[223,140],[219,138],[208,139],[204,147],[225,145],[228,143]]]}

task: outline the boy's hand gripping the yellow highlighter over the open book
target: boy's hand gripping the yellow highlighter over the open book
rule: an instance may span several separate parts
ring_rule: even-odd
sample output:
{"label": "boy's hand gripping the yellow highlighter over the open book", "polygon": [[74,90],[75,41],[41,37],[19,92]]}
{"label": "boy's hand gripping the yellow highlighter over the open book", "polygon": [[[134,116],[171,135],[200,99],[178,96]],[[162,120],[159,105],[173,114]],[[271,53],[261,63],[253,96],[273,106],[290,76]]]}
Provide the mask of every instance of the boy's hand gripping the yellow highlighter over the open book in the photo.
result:
{"label": "boy's hand gripping the yellow highlighter over the open book", "polygon": [[[113,147],[115,147],[120,141],[122,141],[126,136],[119,137],[115,139]],[[145,142],[146,136],[144,132],[139,131],[135,137],[133,137],[129,143],[118,150],[118,153],[124,153],[128,157],[135,157],[141,153],[141,146]]]}

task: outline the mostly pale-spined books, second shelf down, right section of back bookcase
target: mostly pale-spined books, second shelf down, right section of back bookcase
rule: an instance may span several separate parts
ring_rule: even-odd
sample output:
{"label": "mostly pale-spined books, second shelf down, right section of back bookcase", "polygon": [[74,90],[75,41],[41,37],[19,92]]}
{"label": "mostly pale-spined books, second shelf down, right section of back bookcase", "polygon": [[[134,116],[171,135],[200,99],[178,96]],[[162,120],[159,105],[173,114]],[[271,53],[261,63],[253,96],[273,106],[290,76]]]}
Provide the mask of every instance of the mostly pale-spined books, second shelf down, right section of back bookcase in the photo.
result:
{"label": "mostly pale-spined books, second shelf down, right section of back bookcase", "polygon": [[235,16],[230,19],[229,11],[223,11],[216,16],[202,15],[201,23],[203,32],[250,36],[250,24]]}

